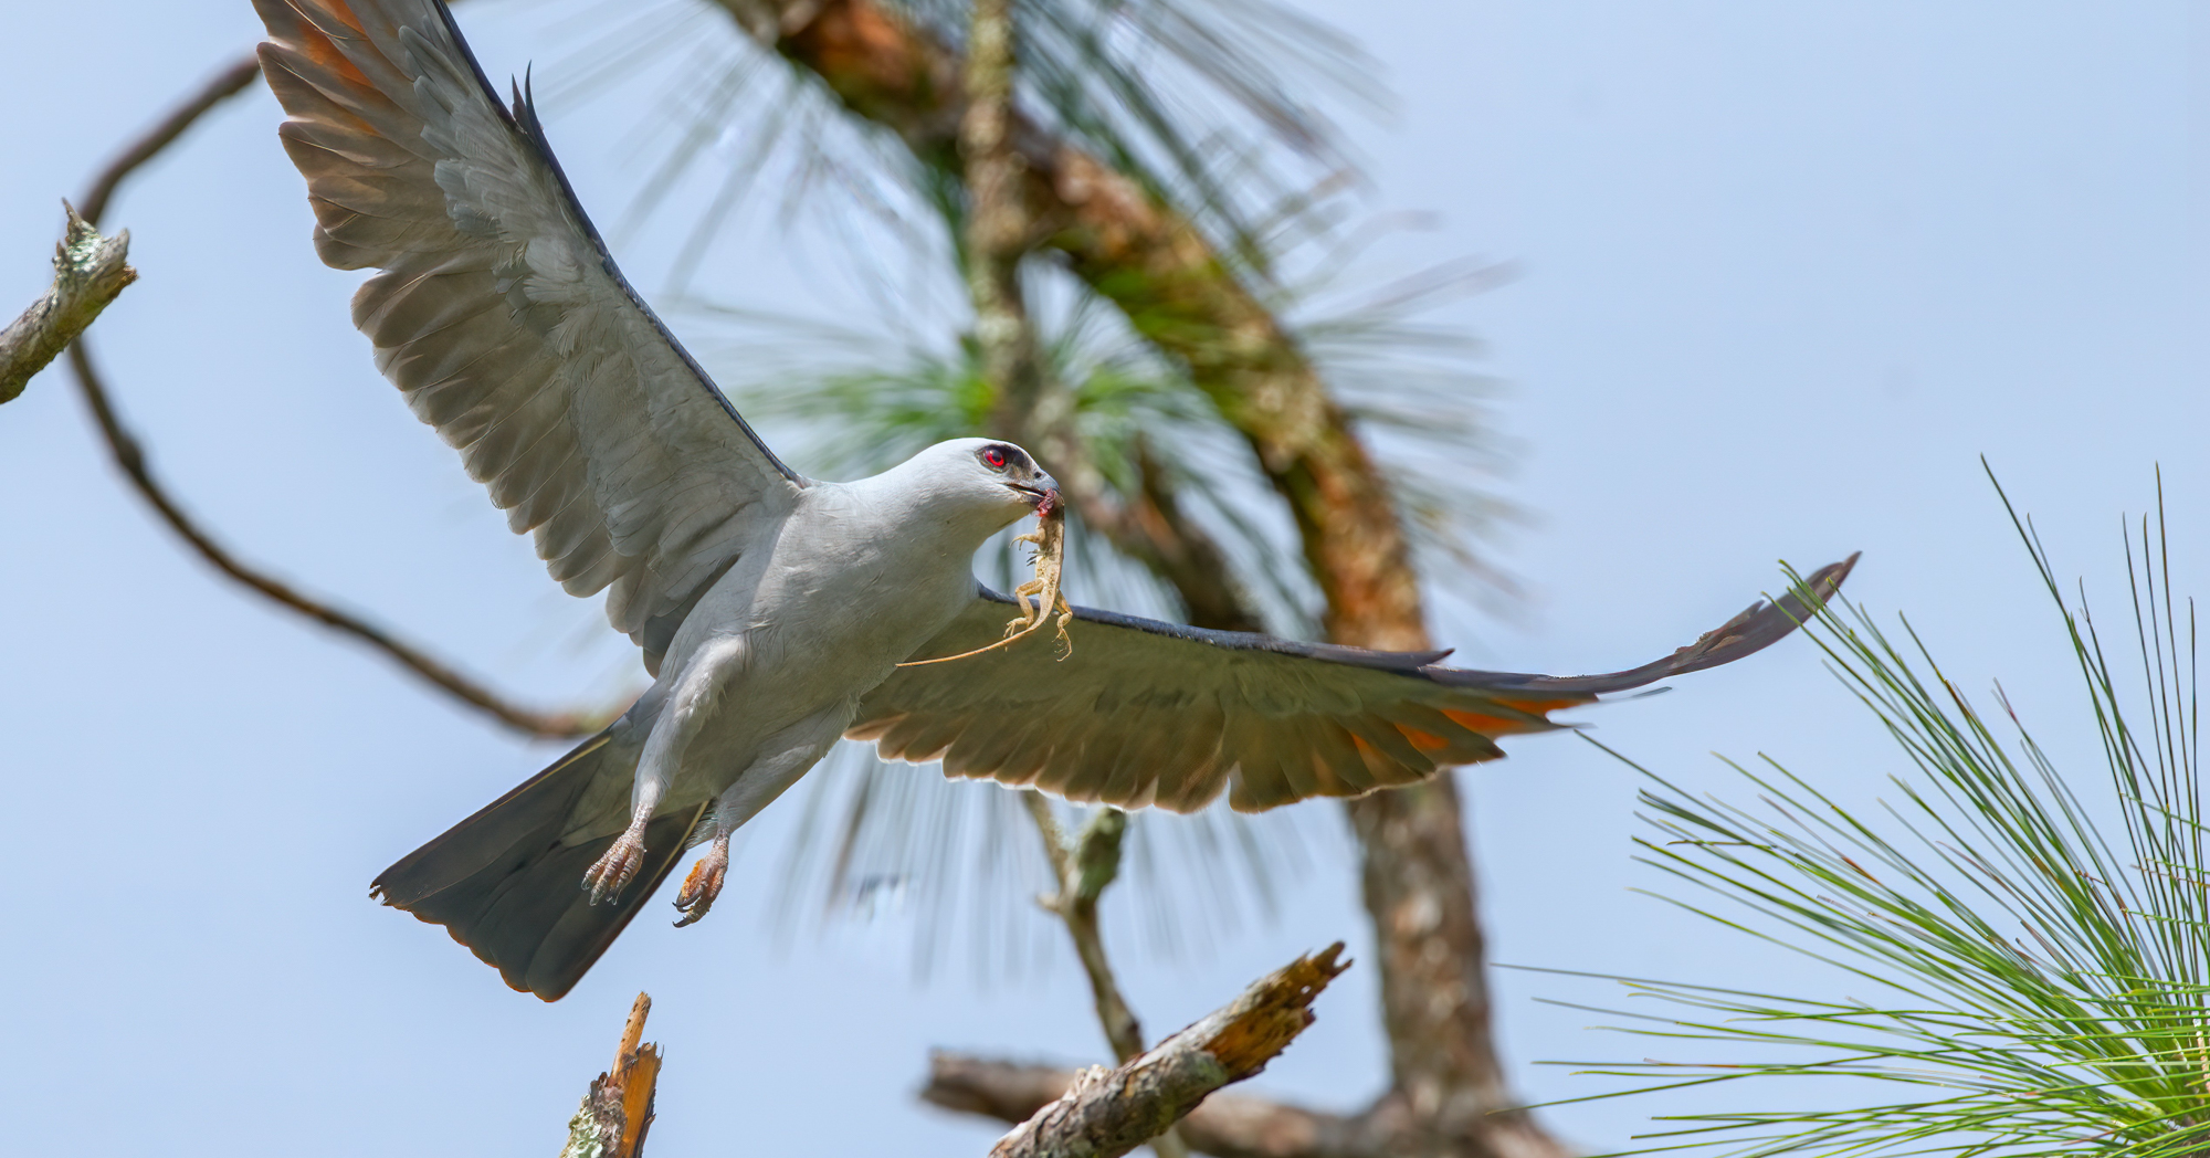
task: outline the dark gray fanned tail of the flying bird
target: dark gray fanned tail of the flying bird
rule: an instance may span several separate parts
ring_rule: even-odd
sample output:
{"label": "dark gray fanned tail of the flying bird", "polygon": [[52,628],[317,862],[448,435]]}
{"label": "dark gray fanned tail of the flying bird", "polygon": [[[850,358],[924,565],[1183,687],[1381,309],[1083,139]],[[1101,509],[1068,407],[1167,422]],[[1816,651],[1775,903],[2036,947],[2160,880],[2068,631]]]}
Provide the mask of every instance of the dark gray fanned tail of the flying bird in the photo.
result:
{"label": "dark gray fanned tail of the flying bird", "polygon": [[614,844],[614,833],[561,844],[583,789],[617,760],[636,754],[601,731],[524,780],[515,791],[407,853],[369,886],[393,908],[442,924],[455,941],[519,992],[559,1001],[583,979],[630,917],[667,880],[705,804],[654,818],[645,864],[619,897],[590,904],[583,871]]}

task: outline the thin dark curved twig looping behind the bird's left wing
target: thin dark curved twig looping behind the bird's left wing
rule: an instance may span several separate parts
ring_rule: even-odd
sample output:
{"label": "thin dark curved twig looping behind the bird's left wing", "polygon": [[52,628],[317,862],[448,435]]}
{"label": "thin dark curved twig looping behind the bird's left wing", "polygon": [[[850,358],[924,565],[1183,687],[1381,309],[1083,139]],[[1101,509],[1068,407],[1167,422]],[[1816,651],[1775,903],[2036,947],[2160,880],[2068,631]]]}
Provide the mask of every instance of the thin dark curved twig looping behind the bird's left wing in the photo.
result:
{"label": "thin dark curved twig looping behind the bird's left wing", "polygon": [[[181,137],[183,130],[190,128],[192,122],[197,122],[210,108],[219,106],[223,99],[245,88],[256,75],[261,75],[261,66],[248,55],[245,60],[217,73],[199,91],[179,102],[175,110],[161,117],[159,124],[148,128],[146,135],[130,141],[130,146],[126,146],[115,157],[115,161],[110,161],[104,170],[99,170],[99,177],[93,179],[93,186],[84,197],[84,221],[97,225],[99,214],[106,210],[108,201],[115,197],[115,190],[122,186],[124,179],[128,179],[133,172],[137,172],[139,166],[155,159],[164,148],[177,141],[177,137]],[[499,696],[497,692],[484,687],[482,683],[460,674],[453,665],[431,656],[422,648],[415,648],[398,639],[389,630],[369,623],[358,614],[338,610],[329,601],[305,594],[292,588],[290,583],[241,561],[230,548],[219,544],[203,526],[199,526],[190,515],[186,515],[183,506],[175,497],[170,497],[168,488],[161,486],[161,482],[155,480],[152,471],[146,464],[146,449],[137,440],[137,435],[133,435],[130,429],[122,424],[122,418],[115,413],[115,402],[110,400],[106,380],[102,378],[97,365],[93,362],[93,356],[86,349],[84,338],[77,338],[77,343],[69,347],[69,367],[75,371],[77,387],[84,391],[84,404],[91,407],[93,418],[99,424],[99,433],[108,442],[108,453],[115,457],[115,464],[124,471],[124,477],[128,477],[130,484],[137,486],[139,495],[146,497],[146,502],[155,508],[155,513],[161,515],[164,522],[168,522],[168,526],[186,541],[186,546],[199,552],[199,557],[212,564],[219,572],[239,581],[248,590],[272,599],[278,606],[292,608],[294,612],[305,614],[307,619],[314,619],[325,628],[345,632],[367,643],[369,648],[385,652],[400,667],[407,667],[409,672],[424,678],[433,687],[451,694],[453,698],[466,703],[469,707],[488,714],[491,718],[504,723],[506,727],[513,727],[515,731],[528,736],[548,736],[548,738],[588,736],[599,727],[603,727],[608,718],[619,714],[619,707],[588,709],[588,712],[537,712],[530,707],[515,705],[506,696]]]}

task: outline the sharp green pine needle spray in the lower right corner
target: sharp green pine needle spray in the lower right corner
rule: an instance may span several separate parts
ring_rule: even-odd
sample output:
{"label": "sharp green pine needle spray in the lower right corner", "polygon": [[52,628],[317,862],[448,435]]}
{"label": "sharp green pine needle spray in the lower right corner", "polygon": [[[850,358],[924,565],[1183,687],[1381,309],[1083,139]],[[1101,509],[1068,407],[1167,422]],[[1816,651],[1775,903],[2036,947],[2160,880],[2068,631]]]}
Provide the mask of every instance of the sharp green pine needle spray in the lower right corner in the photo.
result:
{"label": "sharp green pine needle spray in the lower right corner", "polygon": [[1837,674],[1916,769],[1892,780],[1901,800],[1885,815],[1852,811],[1770,760],[1737,767],[1764,809],[1653,776],[1642,800],[1658,833],[1640,844],[1649,864],[1719,902],[1675,899],[1682,910],[1837,966],[1878,999],[1622,979],[1677,1010],[1629,1014],[1631,1032],[1717,1048],[1722,1061],[1600,1072],[1662,1074],[1638,1092],[1764,1078],[1772,1096],[1777,1078],[1870,1078],[1896,1094],[1669,1116],[1653,1149],[2210,1154],[2195,606],[2172,597],[2159,510],[2128,535],[2133,623],[2113,654],[2084,588],[2069,610],[2031,524],[2018,528],[2064,621],[2104,789],[2084,798],[2097,778],[2066,776],[2000,687],[1998,736],[1907,621],[1898,648],[1856,608],[1823,612],[1812,632]]}

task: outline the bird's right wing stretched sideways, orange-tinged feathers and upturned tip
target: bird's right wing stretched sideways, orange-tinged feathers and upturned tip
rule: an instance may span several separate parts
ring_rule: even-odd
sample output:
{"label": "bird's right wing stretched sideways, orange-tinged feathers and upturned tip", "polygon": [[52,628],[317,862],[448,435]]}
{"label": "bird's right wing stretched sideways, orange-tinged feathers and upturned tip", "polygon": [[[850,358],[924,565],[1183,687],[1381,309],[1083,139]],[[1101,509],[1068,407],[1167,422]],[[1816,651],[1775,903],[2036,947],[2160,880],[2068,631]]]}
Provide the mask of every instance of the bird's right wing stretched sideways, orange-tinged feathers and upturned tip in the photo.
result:
{"label": "bird's right wing stretched sideways, orange-tinged feathers and upturned tip", "polygon": [[[1812,572],[1823,603],[1856,555]],[[983,590],[913,659],[1003,634],[1012,601]],[[1048,639],[899,667],[846,736],[886,760],[944,760],[946,776],[1034,785],[1067,800],[1196,811],[1222,789],[1238,811],[1364,796],[1439,767],[1496,760],[1498,736],[1549,731],[1549,712],[1737,661],[1810,617],[1801,599],[1755,603],[1655,663],[1604,676],[1443,667],[1448,652],[1368,652],[1207,632],[1074,610],[1074,652]],[[1050,632],[1039,632],[1048,636]]]}

